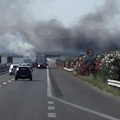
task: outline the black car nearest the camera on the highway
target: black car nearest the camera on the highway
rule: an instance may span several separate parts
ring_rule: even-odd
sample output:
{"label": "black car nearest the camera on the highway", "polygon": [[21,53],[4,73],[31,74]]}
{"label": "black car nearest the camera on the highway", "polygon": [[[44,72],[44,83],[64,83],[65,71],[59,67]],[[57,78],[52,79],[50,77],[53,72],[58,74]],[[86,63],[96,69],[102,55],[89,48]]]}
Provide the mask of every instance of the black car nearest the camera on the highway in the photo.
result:
{"label": "black car nearest the camera on the highway", "polygon": [[32,81],[32,72],[29,66],[19,66],[15,72],[15,80],[18,79],[30,79]]}

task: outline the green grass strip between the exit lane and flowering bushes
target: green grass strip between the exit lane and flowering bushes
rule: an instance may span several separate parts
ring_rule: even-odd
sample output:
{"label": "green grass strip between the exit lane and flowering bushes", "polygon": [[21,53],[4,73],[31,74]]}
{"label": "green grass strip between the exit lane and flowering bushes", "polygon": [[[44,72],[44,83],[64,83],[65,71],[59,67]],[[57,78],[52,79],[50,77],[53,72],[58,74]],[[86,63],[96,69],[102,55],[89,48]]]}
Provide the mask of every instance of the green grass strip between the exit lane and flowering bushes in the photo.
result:
{"label": "green grass strip between the exit lane and flowering bushes", "polygon": [[74,72],[64,71],[114,96],[120,96],[120,89],[107,85],[101,76],[96,76],[94,79],[91,76],[75,75]]}

